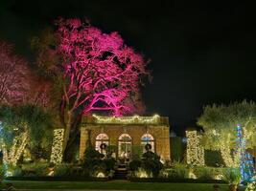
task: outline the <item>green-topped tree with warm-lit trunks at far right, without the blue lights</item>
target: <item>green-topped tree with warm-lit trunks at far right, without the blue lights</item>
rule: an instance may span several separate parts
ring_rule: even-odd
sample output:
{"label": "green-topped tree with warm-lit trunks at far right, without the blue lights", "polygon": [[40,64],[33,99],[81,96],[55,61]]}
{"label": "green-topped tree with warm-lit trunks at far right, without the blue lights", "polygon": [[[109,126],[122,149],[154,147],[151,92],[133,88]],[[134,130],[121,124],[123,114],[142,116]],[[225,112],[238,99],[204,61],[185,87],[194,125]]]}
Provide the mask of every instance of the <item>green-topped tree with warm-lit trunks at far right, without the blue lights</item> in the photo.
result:
{"label": "green-topped tree with warm-lit trunks at far right, without the blue lights", "polygon": [[[229,105],[208,105],[198,118],[203,127],[202,143],[206,149],[221,150],[225,163],[232,163],[231,150],[236,149],[237,125],[243,127],[246,148],[256,146],[256,104],[255,102],[235,102]],[[234,162],[233,162],[234,163]]]}

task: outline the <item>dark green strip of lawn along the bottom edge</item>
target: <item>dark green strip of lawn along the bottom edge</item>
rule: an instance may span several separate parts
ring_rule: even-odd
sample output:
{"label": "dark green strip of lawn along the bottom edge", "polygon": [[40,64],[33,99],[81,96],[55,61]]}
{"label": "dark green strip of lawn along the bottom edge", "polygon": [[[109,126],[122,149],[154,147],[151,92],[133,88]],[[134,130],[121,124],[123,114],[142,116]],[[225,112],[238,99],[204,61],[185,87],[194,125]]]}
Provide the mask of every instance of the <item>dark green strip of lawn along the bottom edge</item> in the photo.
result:
{"label": "dark green strip of lawn along the bottom edge", "polygon": [[[172,191],[213,191],[211,183],[168,183],[111,181],[24,181],[12,180],[18,189],[95,189],[95,190],[172,190]],[[228,191],[226,184],[220,184],[220,191]]]}

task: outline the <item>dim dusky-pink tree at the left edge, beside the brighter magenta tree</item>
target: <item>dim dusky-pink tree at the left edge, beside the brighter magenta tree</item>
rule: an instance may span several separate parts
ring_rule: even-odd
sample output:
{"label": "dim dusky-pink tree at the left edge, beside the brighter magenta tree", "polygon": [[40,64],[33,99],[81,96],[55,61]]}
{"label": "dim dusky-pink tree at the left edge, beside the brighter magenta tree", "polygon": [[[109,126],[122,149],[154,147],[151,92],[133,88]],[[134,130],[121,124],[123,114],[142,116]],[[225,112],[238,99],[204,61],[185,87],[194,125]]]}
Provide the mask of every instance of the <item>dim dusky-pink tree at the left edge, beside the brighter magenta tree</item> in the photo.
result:
{"label": "dim dusky-pink tree at the left edge, beside the brighter magenta tree", "polygon": [[12,45],[0,42],[0,104],[46,107],[49,87],[33,74],[24,59],[12,53]]}

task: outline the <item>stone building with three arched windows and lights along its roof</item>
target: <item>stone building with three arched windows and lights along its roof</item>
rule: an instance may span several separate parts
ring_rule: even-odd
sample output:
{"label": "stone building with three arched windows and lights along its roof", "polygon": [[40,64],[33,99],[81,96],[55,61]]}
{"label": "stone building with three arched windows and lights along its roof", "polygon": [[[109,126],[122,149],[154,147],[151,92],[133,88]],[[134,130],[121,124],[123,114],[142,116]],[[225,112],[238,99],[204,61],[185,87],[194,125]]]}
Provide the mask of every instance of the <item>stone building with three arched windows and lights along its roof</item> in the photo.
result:
{"label": "stone building with three arched windows and lights along its roof", "polygon": [[80,159],[88,141],[99,152],[125,161],[151,150],[162,160],[170,160],[169,118],[159,117],[84,117],[81,121]]}

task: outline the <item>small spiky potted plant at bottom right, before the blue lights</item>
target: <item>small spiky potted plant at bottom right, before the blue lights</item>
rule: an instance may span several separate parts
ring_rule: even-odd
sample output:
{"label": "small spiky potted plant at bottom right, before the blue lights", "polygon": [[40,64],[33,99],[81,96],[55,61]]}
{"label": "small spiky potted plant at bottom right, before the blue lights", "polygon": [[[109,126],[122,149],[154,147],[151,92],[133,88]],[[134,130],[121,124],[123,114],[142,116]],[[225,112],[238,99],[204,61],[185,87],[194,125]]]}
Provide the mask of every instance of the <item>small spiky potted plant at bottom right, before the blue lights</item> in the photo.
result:
{"label": "small spiky potted plant at bottom right, before the blue lights", "polygon": [[237,168],[230,168],[224,173],[224,179],[229,184],[230,191],[237,191],[238,184],[241,181],[241,174],[239,169]]}

